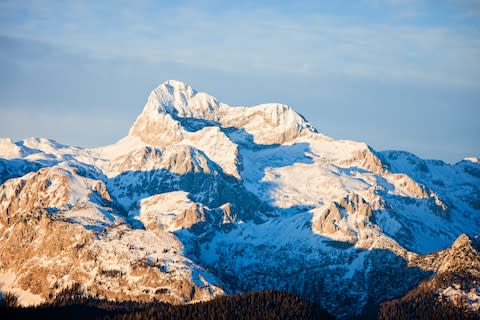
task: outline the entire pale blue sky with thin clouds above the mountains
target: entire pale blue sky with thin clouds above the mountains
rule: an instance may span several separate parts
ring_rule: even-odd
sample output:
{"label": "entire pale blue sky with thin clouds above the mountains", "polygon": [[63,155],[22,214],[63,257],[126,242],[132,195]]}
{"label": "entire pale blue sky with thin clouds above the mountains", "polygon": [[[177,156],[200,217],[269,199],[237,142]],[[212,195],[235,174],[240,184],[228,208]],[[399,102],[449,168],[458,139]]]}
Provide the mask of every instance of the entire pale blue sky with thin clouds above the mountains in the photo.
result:
{"label": "entire pale blue sky with thin clouds above the mountains", "polygon": [[480,1],[0,0],[0,136],[112,143],[167,79],[378,150],[480,156]]}

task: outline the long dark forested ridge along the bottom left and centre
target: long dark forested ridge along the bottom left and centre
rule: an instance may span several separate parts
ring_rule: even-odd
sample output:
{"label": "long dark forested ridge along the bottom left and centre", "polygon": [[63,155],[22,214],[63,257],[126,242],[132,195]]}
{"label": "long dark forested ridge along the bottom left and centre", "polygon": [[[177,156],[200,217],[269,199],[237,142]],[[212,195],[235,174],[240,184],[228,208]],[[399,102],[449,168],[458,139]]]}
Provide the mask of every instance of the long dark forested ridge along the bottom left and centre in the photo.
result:
{"label": "long dark forested ridge along the bottom left and centre", "polygon": [[275,291],[221,296],[214,300],[188,304],[109,302],[85,297],[78,287],[62,291],[50,304],[20,308],[8,296],[0,304],[0,319],[103,319],[103,320],[227,320],[227,319],[334,319],[298,296]]}

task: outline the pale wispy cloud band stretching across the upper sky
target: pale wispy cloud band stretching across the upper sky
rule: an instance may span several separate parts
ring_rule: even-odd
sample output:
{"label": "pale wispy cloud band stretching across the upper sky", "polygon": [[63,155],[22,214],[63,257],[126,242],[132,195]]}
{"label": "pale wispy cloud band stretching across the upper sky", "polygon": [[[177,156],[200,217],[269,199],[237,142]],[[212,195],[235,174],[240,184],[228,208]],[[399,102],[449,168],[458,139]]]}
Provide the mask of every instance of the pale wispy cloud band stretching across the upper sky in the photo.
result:
{"label": "pale wispy cloud band stretching across the upper sky", "polygon": [[341,16],[299,17],[265,8],[217,13],[148,1],[128,7],[49,1],[20,7],[4,4],[4,10],[26,10],[31,17],[7,23],[4,33],[102,58],[170,61],[229,72],[334,73],[480,86],[480,32],[475,30],[459,34],[446,26],[351,23]]}

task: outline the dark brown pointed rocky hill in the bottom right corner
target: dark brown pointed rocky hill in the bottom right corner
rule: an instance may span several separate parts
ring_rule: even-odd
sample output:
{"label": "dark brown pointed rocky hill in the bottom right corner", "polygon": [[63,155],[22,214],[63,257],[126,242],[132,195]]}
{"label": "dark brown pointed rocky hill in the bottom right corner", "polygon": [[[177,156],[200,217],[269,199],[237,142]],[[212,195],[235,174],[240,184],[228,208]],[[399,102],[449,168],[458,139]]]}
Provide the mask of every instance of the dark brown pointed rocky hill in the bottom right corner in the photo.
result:
{"label": "dark brown pointed rocky hill in the bottom right corner", "polygon": [[[477,241],[462,234],[448,249],[415,257],[414,264],[434,270],[435,276],[423,281],[402,298],[384,303],[380,308],[381,318],[391,314],[418,318],[420,315],[415,312],[433,310],[433,305],[437,310],[449,310],[448,313],[444,311],[444,316],[462,316],[463,313],[465,319],[479,318],[480,253],[478,245],[474,244]],[[456,308],[459,311],[455,312]]]}

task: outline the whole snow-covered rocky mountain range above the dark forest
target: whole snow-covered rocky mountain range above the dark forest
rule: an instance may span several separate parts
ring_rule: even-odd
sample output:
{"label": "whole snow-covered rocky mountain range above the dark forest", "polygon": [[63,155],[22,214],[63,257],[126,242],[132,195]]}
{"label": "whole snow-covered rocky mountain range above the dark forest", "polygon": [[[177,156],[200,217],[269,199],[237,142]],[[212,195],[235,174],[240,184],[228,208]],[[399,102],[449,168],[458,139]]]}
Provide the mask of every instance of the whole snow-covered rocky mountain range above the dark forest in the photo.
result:
{"label": "whole snow-covered rocky mountain range above the dark forest", "polygon": [[475,160],[379,152],[170,80],[113,145],[0,140],[1,290],[32,305],[73,284],[173,304],[274,289],[372,314],[440,274],[432,254],[463,263],[448,247],[480,234]]}

